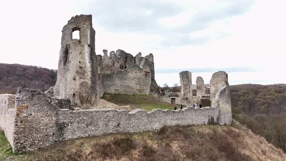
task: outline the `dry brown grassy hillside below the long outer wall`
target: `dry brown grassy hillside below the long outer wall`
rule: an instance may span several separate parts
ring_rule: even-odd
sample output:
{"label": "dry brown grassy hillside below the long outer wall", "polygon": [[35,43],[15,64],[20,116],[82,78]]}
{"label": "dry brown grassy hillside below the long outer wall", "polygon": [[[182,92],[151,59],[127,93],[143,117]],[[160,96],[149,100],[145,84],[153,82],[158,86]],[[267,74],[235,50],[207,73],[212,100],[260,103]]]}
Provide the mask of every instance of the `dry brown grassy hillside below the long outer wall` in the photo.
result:
{"label": "dry brown grassy hillside below the long outer wall", "polygon": [[[6,146],[6,145],[5,145]],[[8,149],[9,150],[9,149]],[[11,149],[10,149],[11,150]],[[0,151],[0,159],[3,159]],[[2,157],[2,158],[1,158]],[[178,126],[158,132],[111,134],[56,145],[9,161],[283,161],[286,155],[240,126]]]}

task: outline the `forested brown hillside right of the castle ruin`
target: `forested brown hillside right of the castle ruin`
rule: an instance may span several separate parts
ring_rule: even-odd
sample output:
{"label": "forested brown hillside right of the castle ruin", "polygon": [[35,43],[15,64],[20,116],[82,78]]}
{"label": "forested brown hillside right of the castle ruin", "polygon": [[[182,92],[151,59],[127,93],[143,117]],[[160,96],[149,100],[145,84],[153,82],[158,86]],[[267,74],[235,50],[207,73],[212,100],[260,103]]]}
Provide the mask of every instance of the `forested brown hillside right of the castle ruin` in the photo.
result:
{"label": "forested brown hillside right of the castle ruin", "polygon": [[233,118],[286,151],[286,84],[230,86]]}

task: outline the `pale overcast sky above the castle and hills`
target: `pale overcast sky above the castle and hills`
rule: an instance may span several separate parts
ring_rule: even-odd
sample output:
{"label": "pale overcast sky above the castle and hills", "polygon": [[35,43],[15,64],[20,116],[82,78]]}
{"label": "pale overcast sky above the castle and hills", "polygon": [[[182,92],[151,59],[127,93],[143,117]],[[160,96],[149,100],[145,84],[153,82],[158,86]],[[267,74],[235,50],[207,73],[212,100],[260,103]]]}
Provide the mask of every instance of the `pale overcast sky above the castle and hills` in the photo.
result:
{"label": "pale overcast sky above the castle and hills", "polygon": [[95,51],[153,53],[159,85],[192,72],[208,83],[286,83],[285,0],[3,0],[0,63],[58,68],[62,28],[93,15]]}

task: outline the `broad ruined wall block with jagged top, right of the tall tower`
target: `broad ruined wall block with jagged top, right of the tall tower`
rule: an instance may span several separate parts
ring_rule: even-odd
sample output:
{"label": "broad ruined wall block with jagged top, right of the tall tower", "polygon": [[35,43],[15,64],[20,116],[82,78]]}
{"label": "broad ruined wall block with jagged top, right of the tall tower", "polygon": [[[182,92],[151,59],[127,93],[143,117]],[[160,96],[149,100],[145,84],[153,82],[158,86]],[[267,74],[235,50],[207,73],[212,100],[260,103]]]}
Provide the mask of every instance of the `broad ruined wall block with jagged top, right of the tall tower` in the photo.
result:
{"label": "broad ruined wall block with jagged top, right of the tall tower", "polygon": [[[153,54],[142,57],[139,52],[135,57],[118,49],[103,50],[102,81],[104,92],[109,94],[148,95],[156,91]],[[154,89],[155,88],[155,89]]]}

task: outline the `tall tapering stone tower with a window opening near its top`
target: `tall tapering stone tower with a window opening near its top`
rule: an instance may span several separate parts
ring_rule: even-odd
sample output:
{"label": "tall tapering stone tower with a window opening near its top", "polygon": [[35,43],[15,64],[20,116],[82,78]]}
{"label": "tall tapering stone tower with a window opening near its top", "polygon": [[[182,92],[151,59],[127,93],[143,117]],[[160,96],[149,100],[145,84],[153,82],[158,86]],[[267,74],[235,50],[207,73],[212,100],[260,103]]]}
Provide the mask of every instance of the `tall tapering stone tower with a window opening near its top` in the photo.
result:
{"label": "tall tapering stone tower with a window opening near its top", "polygon": [[[79,32],[79,39],[73,32]],[[54,97],[70,99],[81,108],[92,106],[101,87],[92,16],[72,17],[63,28],[61,45]]]}

